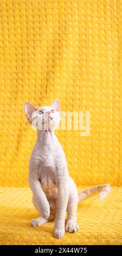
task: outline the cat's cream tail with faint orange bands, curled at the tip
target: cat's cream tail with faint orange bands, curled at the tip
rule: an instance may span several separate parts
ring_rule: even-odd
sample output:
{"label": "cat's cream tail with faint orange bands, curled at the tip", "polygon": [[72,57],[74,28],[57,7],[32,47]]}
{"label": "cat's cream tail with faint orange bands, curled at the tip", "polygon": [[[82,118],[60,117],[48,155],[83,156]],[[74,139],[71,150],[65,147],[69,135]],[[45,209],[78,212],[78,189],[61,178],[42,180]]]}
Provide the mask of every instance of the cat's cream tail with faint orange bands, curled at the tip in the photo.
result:
{"label": "cat's cream tail with faint orange bands, curled at the tip", "polygon": [[88,197],[92,197],[99,193],[99,199],[103,200],[110,192],[112,188],[110,184],[97,185],[94,187],[87,188],[86,190],[79,193],[79,202],[85,200]]}

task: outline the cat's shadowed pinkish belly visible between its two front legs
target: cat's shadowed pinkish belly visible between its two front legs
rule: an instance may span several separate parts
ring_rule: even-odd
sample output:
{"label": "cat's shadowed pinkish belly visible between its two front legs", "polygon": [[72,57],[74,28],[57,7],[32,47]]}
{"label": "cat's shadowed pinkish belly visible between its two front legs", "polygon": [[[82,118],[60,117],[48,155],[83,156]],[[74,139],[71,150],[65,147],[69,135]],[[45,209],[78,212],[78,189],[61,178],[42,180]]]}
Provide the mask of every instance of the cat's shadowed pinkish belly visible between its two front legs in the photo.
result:
{"label": "cat's shadowed pinkish belly visible between its two front legs", "polygon": [[57,186],[54,171],[45,168],[40,175],[42,190],[48,198],[57,198]]}

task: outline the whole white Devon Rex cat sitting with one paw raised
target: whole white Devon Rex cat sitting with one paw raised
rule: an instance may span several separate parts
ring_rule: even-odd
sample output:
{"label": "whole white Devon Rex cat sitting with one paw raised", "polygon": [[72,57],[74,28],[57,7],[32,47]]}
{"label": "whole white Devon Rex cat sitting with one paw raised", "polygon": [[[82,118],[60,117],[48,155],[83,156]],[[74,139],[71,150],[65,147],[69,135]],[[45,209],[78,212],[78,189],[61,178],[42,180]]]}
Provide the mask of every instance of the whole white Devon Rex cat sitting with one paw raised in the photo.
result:
{"label": "whole white Devon Rex cat sitting with one paw raised", "polygon": [[[37,141],[29,161],[29,185],[33,191],[33,204],[40,217],[31,221],[32,226],[54,220],[54,235],[65,235],[66,230],[75,232],[78,202],[100,192],[99,199],[104,199],[111,191],[109,184],[98,185],[78,194],[75,182],[69,176],[65,153],[55,136],[55,128],[60,123],[60,102],[55,99],[51,106],[36,108],[25,102],[25,114],[31,124],[36,118],[42,125],[37,129]],[[47,118],[45,118],[47,117]],[[47,122],[48,120],[48,122]]]}

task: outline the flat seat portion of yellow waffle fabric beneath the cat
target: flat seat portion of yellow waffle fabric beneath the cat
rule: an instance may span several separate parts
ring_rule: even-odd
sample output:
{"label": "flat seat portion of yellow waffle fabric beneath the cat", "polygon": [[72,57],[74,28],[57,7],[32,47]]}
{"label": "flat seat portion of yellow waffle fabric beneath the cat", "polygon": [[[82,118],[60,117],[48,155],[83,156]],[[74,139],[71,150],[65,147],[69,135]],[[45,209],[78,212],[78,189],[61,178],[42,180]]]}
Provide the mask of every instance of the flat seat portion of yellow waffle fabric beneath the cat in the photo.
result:
{"label": "flat seat portion of yellow waffle fabric beneath the cat", "polygon": [[80,230],[74,234],[66,232],[62,239],[53,235],[54,221],[30,227],[31,218],[38,214],[30,201],[29,188],[7,187],[0,192],[2,245],[122,245],[122,188],[114,187],[111,196],[103,201],[93,197],[79,204]]}

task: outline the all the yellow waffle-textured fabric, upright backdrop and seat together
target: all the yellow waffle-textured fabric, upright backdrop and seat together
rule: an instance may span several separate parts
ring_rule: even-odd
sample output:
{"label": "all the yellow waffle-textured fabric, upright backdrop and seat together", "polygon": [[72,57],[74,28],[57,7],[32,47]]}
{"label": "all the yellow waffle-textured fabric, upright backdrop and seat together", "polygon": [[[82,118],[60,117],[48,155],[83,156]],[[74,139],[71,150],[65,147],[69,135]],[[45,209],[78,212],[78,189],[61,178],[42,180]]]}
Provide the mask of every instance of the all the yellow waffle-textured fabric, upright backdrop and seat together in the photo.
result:
{"label": "all the yellow waffle-textured fabric, upright backdrop and seat together", "polygon": [[[0,1],[1,244],[122,244],[121,0]],[[56,131],[78,186],[109,182],[104,202],[79,205],[79,233],[53,237],[37,216],[28,187],[36,139],[24,102],[90,111],[89,136]]]}

